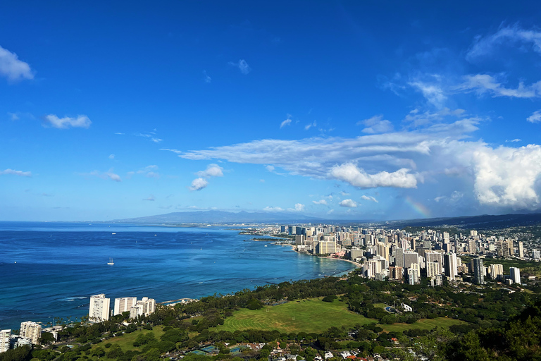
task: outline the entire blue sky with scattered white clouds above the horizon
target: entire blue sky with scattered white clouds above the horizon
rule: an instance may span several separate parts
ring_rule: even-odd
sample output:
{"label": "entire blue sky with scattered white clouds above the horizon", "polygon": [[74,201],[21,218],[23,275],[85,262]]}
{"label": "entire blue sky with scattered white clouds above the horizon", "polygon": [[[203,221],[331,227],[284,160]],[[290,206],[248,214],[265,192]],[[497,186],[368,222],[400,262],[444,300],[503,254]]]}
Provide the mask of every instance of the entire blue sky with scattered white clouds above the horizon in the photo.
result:
{"label": "entire blue sky with scattered white clouds above the horizon", "polygon": [[537,1],[11,1],[0,219],[541,207]]}

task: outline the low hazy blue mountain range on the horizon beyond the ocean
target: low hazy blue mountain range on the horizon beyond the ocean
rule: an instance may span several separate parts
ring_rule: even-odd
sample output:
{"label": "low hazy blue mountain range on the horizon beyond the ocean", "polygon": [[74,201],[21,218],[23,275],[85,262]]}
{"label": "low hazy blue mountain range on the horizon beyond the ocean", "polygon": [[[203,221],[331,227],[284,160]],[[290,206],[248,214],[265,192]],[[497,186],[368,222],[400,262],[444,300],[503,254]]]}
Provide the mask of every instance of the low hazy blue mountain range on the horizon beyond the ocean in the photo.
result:
{"label": "low hazy blue mountain range on the horizon beyond the ocean", "polygon": [[146,216],[129,219],[116,219],[118,223],[140,224],[240,224],[240,223],[320,223],[324,219],[291,213],[250,213],[250,212],[223,212],[223,211],[198,211],[198,212],[173,212],[157,216]]}

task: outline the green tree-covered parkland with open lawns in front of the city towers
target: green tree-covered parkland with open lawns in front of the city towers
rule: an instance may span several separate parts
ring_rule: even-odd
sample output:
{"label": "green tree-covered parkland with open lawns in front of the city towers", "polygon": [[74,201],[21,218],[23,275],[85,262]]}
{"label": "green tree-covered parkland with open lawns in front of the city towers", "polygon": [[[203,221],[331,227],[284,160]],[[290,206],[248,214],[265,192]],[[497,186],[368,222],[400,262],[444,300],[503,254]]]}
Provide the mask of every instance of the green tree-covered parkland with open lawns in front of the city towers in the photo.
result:
{"label": "green tree-covered parkland with open lawns in front of the city towers", "polygon": [[[32,353],[20,348],[1,354],[0,361],[158,361],[168,352],[186,353],[186,361],[267,360],[278,342],[307,361],[323,350],[357,350],[363,356],[378,353],[399,360],[412,360],[411,352],[430,360],[536,360],[541,316],[535,292],[509,293],[494,284],[432,288],[425,280],[410,286],[354,274],[283,282],[160,306],[128,326],[122,323],[127,314],[98,324],[73,323],[60,334],[73,348],[53,345]],[[405,312],[402,304],[413,312]],[[396,313],[387,312],[385,305],[394,306]],[[225,343],[266,346],[232,353]],[[189,353],[211,344],[216,347],[213,356]]]}

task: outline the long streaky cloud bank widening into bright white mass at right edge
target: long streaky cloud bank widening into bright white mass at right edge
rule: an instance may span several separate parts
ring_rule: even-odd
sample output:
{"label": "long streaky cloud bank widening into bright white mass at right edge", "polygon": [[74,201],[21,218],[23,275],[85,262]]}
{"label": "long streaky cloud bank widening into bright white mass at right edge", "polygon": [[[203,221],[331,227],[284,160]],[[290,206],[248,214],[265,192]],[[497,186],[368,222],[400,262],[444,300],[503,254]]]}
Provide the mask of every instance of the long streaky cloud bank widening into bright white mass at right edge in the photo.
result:
{"label": "long streaky cloud bank widening into bright white mass at right edge", "polygon": [[[411,189],[425,182],[452,186],[459,176],[466,180],[464,184],[473,185],[469,192],[479,204],[511,209],[539,207],[538,146],[494,148],[482,140],[468,139],[483,119],[469,116],[461,109],[413,111],[406,118],[406,124],[416,123],[415,130],[404,128],[354,138],[254,140],[182,152],[179,157],[267,164],[271,171],[279,166],[294,175],[339,180],[361,189]],[[370,197],[361,197],[377,202],[367,198]],[[356,205],[354,200],[346,201],[340,205]],[[313,204],[323,203],[313,201]]]}

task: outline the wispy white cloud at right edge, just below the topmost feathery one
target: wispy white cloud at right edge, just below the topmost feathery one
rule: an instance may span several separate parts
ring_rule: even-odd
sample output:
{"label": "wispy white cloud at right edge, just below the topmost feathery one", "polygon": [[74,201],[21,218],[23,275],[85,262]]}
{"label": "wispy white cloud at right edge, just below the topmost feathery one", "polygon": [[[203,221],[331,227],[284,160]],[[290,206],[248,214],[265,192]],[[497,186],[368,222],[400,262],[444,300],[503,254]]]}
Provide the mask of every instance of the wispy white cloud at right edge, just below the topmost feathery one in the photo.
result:
{"label": "wispy white cloud at right edge, just below the topmost feathery one", "polygon": [[509,88],[502,85],[497,78],[488,74],[465,75],[464,82],[454,87],[463,92],[475,92],[475,94],[490,94],[492,97],[535,98],[541,96],[541,81],[532,85],[524,85],[518,82],[518,87]]}

